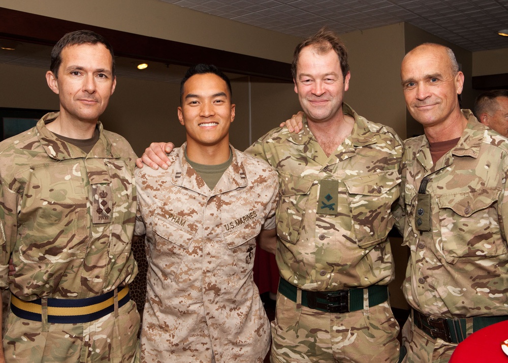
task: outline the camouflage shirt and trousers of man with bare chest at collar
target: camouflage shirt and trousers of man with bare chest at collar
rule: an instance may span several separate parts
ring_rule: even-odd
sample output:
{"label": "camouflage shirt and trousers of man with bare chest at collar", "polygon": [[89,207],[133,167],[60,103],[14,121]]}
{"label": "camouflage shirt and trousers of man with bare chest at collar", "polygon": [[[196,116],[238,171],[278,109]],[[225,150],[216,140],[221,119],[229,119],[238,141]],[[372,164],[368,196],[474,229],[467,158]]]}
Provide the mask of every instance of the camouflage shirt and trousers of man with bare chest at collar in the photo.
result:
{"label": "camouflage shirt and trousers of man with bare chest at collar", "polygon": [[[247,149],[279,172],[277,265],[281,278],[302,290],[366,288],[393,279],[388,232],[394,223],[390,210],[400,193],[402,142],[392,129],[342,106],[355,125],[330,157],[305,120],[299,134],[274,129]],[[321,180],[337,183],[336,215],[318,213]],[[370,308],[364,302],[363,310],[331,314],[279,293],[271,358],[397,361],[398,332],[389,302]]]}

